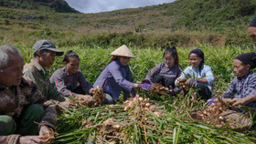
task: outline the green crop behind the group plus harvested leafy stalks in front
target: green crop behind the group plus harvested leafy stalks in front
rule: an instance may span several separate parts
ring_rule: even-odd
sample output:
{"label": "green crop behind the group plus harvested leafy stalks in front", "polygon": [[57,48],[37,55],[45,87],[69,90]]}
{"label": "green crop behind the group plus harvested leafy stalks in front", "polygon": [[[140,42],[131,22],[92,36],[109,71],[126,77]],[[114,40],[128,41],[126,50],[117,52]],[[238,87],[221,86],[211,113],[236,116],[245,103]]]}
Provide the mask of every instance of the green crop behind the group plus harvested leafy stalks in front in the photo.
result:
{"label": "green crop behind the group plus harvested leafy stalks in front", "polygon": [[[32,57],[32,48],[22,43],[13,44],[22,52],[26,62]],[[136,58],[131,59],[130,67],[134,81],[141,83],[147,72],[163,61],[161,48],[133,48]],[[255,47],[222,46],[214,48],[198,44],[195,47],[177,47],[180,65],[186,68],[187,56],[190,50],[199,47],[205,53],[205,64],[210,66],[215,76],[214,94],[219,96],[229,86],[234,77],[232,61],[241,53],[255,52]],[[59,49],[67,52],[72,49],[80,55],[80,70],[93,84],[101,74],[102,68],[109,62],[109,55],[116,47],[105,48],[101,46],[60,46]],[[63,67],[62,57],[56,57],[56,62],[51,67],[50,73]],[[137,90],[142,98],[150,98],[150,105],[155,105],[161,113],[156,116],[153,112],[146,112],[143,108],[133,113],[125,111],[123,101],[117,105],[102,106],[98,108],[65,109],[59,117],[56,142],[62,143],[253,143],[253,131],[247,133],[235,132],[227,129],[227,125],[217,129],[215,124],[206,124],[189,118],[189,111],[204,108],[204,102],[192,98],[192,93],[187,97],[155,96],[150,92]],[[122,98],[121,98],[122,99]],[[135,105],[134,105],[135,106]],[[141,106],[144,107],[144,106]],[[131,113],[132,112],[132,113]],[[109,119],[111,118],[111,119]],[[106,120],[109,119],[109,123]],[[117,129],[116,129],[117,128]]]}

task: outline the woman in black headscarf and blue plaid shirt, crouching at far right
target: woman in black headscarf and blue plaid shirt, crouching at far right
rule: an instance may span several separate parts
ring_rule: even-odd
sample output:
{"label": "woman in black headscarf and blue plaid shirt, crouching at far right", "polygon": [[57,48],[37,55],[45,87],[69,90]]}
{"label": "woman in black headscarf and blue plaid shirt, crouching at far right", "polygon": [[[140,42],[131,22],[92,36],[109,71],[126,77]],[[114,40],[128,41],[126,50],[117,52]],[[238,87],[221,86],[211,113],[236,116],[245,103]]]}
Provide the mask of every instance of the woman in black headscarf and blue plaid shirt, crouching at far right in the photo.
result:
{"label": "woman in black headscarf and blue plaid shirt, crouching at far right", "polygon": [[256,73],[251,72],[256,67],[256,54],[241,54],[234,59],[233,66],[236,77],[222,98],[232,98],[233,106],[256,107]]}

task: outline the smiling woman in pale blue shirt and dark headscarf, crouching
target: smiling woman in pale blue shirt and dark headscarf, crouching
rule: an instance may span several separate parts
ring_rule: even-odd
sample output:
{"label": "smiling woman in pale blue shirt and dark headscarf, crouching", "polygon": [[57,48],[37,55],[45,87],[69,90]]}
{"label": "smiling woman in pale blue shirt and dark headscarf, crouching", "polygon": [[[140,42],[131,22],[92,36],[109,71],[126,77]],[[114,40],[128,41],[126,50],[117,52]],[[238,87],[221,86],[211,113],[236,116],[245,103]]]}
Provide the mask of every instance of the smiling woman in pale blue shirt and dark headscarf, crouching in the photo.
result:
{"label": "smiling woman in pale blue shirt and dark headscarf, crouching", "polygon": [[[179,78],[189,78],[187,79],[187,85],[195,86],[199,97],[207,100],[212,96],[212,84],[214,82],[214,77],[211,68],[204,65],[205,58],[204,53],[201,49],[193,49],[188,55],[188,60],[190,67],[184,70]],[[176,86],[179,86],[176,80]]]}

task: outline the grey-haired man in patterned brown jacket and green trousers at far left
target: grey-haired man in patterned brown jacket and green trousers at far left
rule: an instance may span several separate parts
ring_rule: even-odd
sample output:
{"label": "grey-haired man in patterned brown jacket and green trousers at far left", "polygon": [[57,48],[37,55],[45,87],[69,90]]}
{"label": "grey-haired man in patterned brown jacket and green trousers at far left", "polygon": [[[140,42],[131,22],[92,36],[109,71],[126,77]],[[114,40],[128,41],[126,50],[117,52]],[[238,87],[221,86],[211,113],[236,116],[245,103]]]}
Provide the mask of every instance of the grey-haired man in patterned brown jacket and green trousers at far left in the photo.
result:
{"label": "grey-haired man in patterned brown jacket and green trousers at far left", "polygon": [[0,46],[0,143],[48,143],[55,105],[23,77],[24,59],[14,46]]}

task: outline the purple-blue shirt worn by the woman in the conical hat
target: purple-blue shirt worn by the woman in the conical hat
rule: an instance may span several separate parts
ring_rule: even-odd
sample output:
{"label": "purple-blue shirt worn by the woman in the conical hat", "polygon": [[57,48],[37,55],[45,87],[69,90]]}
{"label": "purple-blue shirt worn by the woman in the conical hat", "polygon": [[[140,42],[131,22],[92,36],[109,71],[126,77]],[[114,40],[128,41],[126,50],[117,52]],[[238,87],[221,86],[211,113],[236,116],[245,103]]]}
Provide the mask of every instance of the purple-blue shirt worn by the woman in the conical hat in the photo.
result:
{"label": "purple-blue shirt worn by the woman in the conical hat", "polygon": [[[127,77],[131,77],[132,80],[126,80]],[[105,85],[103,86],[103,84]],[[105,67],[93,87],[103,87],[105,93],[110,94],[112,98],[117,100],[123,88],[127,91],[131,91],[133,85],[130,67],[128,65],[123,66],[118,60],[115,60]]]}

